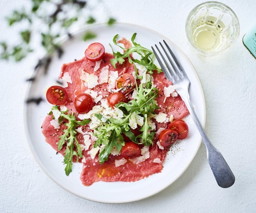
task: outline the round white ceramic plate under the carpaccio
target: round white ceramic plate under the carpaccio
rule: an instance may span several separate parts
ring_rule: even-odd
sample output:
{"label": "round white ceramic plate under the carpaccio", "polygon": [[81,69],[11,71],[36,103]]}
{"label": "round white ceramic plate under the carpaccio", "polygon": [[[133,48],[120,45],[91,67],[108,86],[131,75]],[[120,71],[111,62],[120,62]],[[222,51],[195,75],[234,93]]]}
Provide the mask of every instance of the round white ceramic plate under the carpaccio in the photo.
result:
{"label": "round white ceramic plate under the carpaccio", "polygon": [[[97,38],[83,42],[83,33],[88,29],[95,32]],[[75,37],[72,40],[67,40],[62,44],[64,50],[62,58],[53,57],[48,74],[43,75],[42,70],[37,73],[37,80],[29,84],[26,98],[44,97],[43,90],[48,86],[56,84],[62,64],[82,58],[86,47],[90,43],[100,42],[104,45],[106,52],[112,52],[109,43],[112,43],[115,34],[130,40],[134,32],[137,32],[136,41],[142,46],[150,48],[152,45],[165,39],[173,49],[174,54],[182,63],[191,81],[191,102],[195,107],[199,120],[204,126],[204,93],[199,77],[189,59],[165,36],[151,29],[130,24],[115,24],[112,27],[100,24],[74,33]],[[201,137],[194,122],[190,116],[187,116],[185,120],[189,125],[189,135],[185,140],[173,146],[172,151],[169,152],[165,159],[164,168],[161,173],[153,174],[148,178],[131,183],[100,181],[86,187],[80,181],[82,164],[74,163],[72,172],[67,177],[64,172],[65,165],[62,163],[63,157],[60,154],[56,155],[56,151],[45,142],[41,132],[41,124],[50,109],[51,105],[47,101],[41,102],[40,105],[28,104],[25,106],[25,126],[31,151],[38,164],[54,182],[67,191],[87,200],[104,203],[124,203],[152,196],[168,187],[181,176],[196,155],[201,143]]]}

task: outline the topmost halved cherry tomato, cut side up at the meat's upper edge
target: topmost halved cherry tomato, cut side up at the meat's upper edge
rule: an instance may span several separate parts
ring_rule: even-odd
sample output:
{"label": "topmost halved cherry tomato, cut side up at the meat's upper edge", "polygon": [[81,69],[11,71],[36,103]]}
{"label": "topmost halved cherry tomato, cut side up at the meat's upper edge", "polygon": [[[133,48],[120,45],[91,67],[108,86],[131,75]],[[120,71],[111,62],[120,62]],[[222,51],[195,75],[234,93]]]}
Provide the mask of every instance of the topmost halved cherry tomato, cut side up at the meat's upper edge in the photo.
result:
{"label": "topmost halved cherry tomato, cut side up at the meat's upper edge", "polygon": [[93,43],[85,50],[84,55],[90,61],[99,61],[105,54],[105,48],[101,43]]}

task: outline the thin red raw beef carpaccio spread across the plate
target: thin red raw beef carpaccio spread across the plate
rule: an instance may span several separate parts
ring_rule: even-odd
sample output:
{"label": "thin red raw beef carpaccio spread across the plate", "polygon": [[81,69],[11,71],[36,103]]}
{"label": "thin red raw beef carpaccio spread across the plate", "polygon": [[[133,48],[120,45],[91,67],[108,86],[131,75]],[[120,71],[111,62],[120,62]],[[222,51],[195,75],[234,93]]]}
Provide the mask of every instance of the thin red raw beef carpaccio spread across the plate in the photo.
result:
{"label": "thin red raw beef carpaccio spread across the plate", "polygon": [[[121,43],[121,42],[120,42]],[[128,44],[127,44],[128,45]],[[70,62],[67,64],[63,64],[61,68],[61,72],[59,75],[59,78],[61,79],[66,72],[68,72],[69,76],[71,77],[72,83],[67,83],[68,86],[65,88],[68,94],[68,101],[65,105],[69,112],[74,112],[77,115],[77,112],[74,107],[74,100],[75,97],[85,92],[88,88],[85,86],[84,81],[80,79],[80,76],[83,71],[94,75],[97,75],[99,77],[101,73],[101,69],[105,66],[109,66],[109,71],[118,71],[118,75],[122,75],[124,73],[132,74],[134,71],[134,67],[132,64],[126,60],[122,65],[117,65],[117,68],[115,69],[112,64],[110,63],[110,60],[114,58],[112,54],[106,53],[105,56],[102,59],[102,62],[100,63],[100,67],[97,71],[94,71],[95,69],[95,62],[89,61],[85,57],[81,60],[76,60],[74,62]],[[188,115],[188,110],[184,104],[184,102],[181,100],[181,97],[178,95],[177,97],[167,97],[165,100],[165,96],[163,95],[163,88],[168,87],[171,85],[171,82],[166,79],[163,73],[154,73],[154,84],[156,88],[159,90],[159,96],[156,98],[158,106],[161,106],[160,109],[156,110],[156,112],[163,112],[174,116],[174,119],[181,119]],[[103,98],[106,98],[109,96],[111,92],[107,89],[108,84],[102,83],[101,85],[97,85],[93,88],[94,91],[101,92],[103,95]],[[129,96],[130,97],[130,96]],[[101,104],[98,102],[97,104]],[[78,118],[77,118],[78,119]],[[59,136],[62,134],[63,128],[65,128],[65,125],[62,123],[60,124],[59,129],[55,129],[54,126],[50,124],[50,121],[52,120],[52,115],[47,115],[43,124],[42,124],[42,133],[45,136],[45,140],[47,143],[49,143],[56,151],[57,151],[57,142],[59,140]],[[155,121],[156,124],[156,130],[159,129],[159,127],[166,128],[168,123],[158,123]],[[90,132],[93,131],[89,129],[88,125],[82,127],[83,132]],[[77,133],[77,140],[80,144],[84,144],[83,134]],[[122,166],[115,166],[115,160],[121,159],[122,157],[118,155],[110,155],[108,161],[104,162],[103,164],[99,163],[98,155],[94,159],[91,158],[90,154],[88,153],[88,150],[83,150],[83,156],[85,156],[86,163],[83,163],[83,169],[81,172],[81,181],[85,186],[89,186],[97,181],[105,181],[105,182],[113,182],[113,181],[126,181],[126,182],[132,182],[137,181],[140,179],[143,179],[145,177],[150,176],[151,174],[161,172],[163,166],[162,162],[164,161],[167,153],[167,149],[160,149],[156,142],[158,136],[156,135],[156,138],[154,140],[154,145],[150,147],[150,157],[147,158],[142,163],[134,163],[133,161],[127,160],[127,163]],[[91,145],[89,147],[89,150],[93,148],[93,138]],[[66,144],[65,144],[66,145]],[[62,155],[64,155],[64,151],[66,149],[66,146],[63,146],[62,150],[59,151]],[[161,163],[154,163],[154,159],[159,158]],[[82,159],[79,159],[79,162],[81,162]],[[73,162],[76,161],[76,157],[74,156]]]}

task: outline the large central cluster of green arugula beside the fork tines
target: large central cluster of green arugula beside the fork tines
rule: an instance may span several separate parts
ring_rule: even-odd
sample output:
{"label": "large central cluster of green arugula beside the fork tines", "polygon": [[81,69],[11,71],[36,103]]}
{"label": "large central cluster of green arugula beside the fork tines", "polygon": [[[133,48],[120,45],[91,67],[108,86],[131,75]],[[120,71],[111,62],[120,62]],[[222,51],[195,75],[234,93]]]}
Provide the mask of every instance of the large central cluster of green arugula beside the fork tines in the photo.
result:
{"label": "large central cluster of green arugula beside the fork tines", "polygon": [[[117,43],[117,37],[118,34],[113,37],[113,43],[124,52],[115,52],[110,44],[114,55],[114,59],[111,59],[110,61],[115,68],[117,63],[122,64],[125,61],[125,58],[128,58],[129,63],[134,65],[136,76],[139,79],[142,79],[142,76],[138,76],[136,64],[144,66],[146,68],[146,72],[150,74],[150,76],[153,74],[154,70],[162,72],[153,62],[154,53],[134,41],[136,33],[134,33],[131,38],[134,46],[128,49]],[[138,54],[141,59],[133,59],[131,57],[131,54],[133,53]],[[134,97],[134,100],[131,100],[128,103],[119,103],[115,105],[123,111],[124,117],[120,120],[109,118],[105,123],[101,123],[94,132],[94,136],[98,138],[94,143],[94,147],[99,147],[101,144],[105,145],[105,148],[99,154],[99,162],[101,164],[108,160],[108,156],[113,147],[116,147],[118,151],[120,151],[122,146],[124,146],[124,138],[122,134],[125,134],[131,141],[138,144],[143,143],[145,146],[153,144],[155,131],[152,131],[152,128],[148,125],[148,118],[155,114],[155,109],[159,109],[155,100],[158,96],[158,90],[150,80],[146,83],[141,83],[139,87],[136,83],[136,90],[137,95]],[[144,120],[144,123],[140,128],[141,134],[137,137],[131,132],[129,127],[129,120],[131,115],[134,115],[134,113],[135,115],[143,116]],[[95,117],[101,120],[102,115],[96,113]]]}

